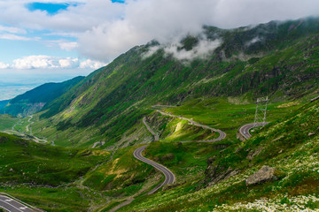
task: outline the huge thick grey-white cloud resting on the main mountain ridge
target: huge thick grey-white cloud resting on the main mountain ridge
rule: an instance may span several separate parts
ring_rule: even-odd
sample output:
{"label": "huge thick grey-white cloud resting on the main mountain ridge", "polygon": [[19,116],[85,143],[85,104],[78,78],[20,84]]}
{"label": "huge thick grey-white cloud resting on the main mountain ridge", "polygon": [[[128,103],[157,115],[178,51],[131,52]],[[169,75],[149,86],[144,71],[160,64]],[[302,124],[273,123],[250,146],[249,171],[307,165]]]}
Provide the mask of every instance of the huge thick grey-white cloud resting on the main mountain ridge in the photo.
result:
{"label": "huge thick grey-white cloud resting on the main mountain ridge", "polygon": [[[317,0],[131,0],[122,19],[105,20],[79,34],[79,50],[84,56],[109,61],[152,39],[167,43],[198,34],[204,25],[231,28],[298,19],[319,14],[318,8]],[[191,52],[182,53],[191,56]]]}

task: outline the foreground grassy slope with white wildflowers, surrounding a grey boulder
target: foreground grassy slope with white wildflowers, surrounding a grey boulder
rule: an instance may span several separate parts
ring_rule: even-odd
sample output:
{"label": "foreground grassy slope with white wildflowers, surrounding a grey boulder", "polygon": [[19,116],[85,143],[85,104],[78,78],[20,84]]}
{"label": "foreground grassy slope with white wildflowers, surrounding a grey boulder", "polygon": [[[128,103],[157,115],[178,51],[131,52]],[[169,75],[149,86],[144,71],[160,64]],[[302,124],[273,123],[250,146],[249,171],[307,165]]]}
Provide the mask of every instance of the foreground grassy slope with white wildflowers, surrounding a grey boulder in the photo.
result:
{"label": "foreground grassy slope with white wildflowers, surrounding a grey boulder", "polygon": [[[318,109],[319,102],[307,103],[252,139],[211,157],[204,179],[141,197],[120,211],[319,208]],[[245,179],[263,165],[276,168],[276,178],[246,186]],[[226,178],[227,171],[232,174]]]}

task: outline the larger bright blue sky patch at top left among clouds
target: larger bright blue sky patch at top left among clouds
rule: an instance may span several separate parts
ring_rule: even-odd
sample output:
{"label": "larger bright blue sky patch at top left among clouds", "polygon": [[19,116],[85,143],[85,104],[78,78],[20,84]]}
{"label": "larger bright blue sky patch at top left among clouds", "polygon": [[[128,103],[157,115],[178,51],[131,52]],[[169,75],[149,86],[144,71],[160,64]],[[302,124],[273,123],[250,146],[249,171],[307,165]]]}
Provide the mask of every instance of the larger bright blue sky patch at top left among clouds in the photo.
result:
{"label": "larger bright blue sky patch at top left among clouds", "polygon": [[69,4],[69,3],[30,3],[27,4],[27,9],[29,11],[47,11],[50,15],[55,15],[58,11],[66,11],[69,6],[76,6],[77,4]]}

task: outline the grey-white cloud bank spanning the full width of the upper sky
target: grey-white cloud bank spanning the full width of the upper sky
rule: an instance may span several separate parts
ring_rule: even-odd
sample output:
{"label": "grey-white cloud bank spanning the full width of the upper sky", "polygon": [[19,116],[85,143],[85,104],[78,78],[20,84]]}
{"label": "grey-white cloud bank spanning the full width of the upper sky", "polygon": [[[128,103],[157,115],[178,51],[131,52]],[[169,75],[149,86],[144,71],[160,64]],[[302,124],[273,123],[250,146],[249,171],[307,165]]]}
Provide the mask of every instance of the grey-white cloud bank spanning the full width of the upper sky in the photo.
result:
{"label": "grey-white cloud bank spanning the full width of the upper sky", "polygon": [[[32,2],[0,1],[0,19],[11,26],[0,26],[0,38],[36,40],[40,38],[25,36],[27,30],[46,29],[76,38],[76,42],[61,42],[60,49],[74,49],[84,57],[104,63],[151,40],[167,43],[186,34],[198,34],[204,25],[242,27],[319,13],[317,0],[127,0],[125,4],[78,0],[55,15],[29,11],[26,4]],[[50,3],[70,2],[52,0]],[[168,51],[175,54],[175,47]],[[190,52],[183,53],[184,57],[191,57],[186,56]]]}

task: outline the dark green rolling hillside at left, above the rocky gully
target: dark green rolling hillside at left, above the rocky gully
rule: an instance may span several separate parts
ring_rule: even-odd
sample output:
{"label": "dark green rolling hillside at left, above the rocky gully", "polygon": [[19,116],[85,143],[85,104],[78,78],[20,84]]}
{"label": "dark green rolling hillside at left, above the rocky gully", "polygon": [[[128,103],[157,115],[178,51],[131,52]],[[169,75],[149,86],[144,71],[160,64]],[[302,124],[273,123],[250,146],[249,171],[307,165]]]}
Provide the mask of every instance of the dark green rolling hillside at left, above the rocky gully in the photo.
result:
{"label": "dark green rolling hillside at left, above the rocky gully", "polygon": [[0,139],[2,184],[58,186],[81,177],[94,164],[109,157],[109,153],[103,151],[56,148],[4,133]]}

